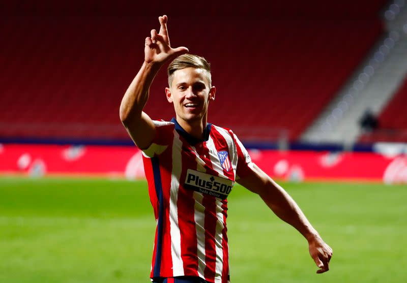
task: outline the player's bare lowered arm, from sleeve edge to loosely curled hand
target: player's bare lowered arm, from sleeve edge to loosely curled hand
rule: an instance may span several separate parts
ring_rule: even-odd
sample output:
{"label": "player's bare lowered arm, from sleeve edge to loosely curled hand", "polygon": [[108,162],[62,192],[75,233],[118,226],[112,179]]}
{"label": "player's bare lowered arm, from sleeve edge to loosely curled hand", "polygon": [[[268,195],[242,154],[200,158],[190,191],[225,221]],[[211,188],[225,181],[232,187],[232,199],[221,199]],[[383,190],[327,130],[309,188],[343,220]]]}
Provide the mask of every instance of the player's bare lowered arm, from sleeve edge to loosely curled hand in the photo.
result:
{"label": "player's bare lowered arm, from sleeve edge to loosely curled hand", "polygon": [[238,183],[258,194],[278,217],[296,228],[307,239],[309,253],[319,268],[316,273],[329,270],[332,248],[323,241],[297,203],[281,186],[256,165],[251,173],[239,179]]}

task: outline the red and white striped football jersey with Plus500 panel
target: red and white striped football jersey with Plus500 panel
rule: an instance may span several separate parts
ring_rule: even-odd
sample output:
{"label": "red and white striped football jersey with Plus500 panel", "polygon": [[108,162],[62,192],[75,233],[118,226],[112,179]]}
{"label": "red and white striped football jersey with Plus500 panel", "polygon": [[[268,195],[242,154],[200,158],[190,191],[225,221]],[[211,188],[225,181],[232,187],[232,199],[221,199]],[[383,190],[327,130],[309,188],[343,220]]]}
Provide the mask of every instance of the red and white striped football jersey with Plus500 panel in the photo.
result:
{"label": "red and white striped football jersey with Plus500 panel", "polygon": [[227,195],[252,170],[232,131],[208,124],[198,141],[178,124],[154,121],[156,136],[143,150],[157,221],[151,278],[199,276],[229,282]]}

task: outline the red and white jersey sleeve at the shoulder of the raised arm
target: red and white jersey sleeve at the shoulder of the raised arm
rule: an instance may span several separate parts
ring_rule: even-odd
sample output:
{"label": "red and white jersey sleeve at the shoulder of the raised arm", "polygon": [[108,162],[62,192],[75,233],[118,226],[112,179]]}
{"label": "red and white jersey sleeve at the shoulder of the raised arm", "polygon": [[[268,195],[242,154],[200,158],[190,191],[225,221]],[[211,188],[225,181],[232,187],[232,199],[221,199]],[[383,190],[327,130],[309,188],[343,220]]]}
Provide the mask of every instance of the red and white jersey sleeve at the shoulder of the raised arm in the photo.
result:
{"label": "red and white jersey sleeve at the shoulder of the raised arm", "polygon": [[160,155],[167,149],[173,139],[174,124],[166,121],[153,120],[156,127],[156,135],[151,145],[146,149],[141,149],[144,156],[153,158]]}

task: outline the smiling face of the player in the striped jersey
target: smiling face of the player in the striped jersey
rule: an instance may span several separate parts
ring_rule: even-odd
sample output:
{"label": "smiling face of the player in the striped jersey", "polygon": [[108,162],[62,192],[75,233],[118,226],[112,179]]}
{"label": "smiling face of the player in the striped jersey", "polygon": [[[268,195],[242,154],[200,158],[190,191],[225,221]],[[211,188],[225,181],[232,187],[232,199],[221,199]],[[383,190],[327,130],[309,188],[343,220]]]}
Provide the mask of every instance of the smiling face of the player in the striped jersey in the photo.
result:
{"label": "smiling face of the player in the striped jersey", "polygon": [[216,92],[209,84],[208,71],[185,68],[172,76],[171,86],[165,92],[168,102],[174,104],[177,119],[192,122],[206,117],[209,101],[215,99]]}

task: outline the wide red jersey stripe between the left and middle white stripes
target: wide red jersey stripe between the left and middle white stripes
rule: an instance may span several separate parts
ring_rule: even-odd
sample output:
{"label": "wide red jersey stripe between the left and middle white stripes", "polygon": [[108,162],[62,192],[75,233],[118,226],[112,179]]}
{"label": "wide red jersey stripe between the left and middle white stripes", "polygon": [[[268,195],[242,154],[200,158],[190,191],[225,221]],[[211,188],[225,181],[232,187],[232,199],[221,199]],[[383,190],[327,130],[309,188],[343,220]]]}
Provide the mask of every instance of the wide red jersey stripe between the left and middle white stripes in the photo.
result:
{"label": "wide red jersey stripe between the left and middle white stripes", "polygon": [[[182,147],[188,148],[187,141],[180,136]],[[189,168],[196,170],[197,164],[195,158],[191,158],[190,154],[195,156],[191,151],[182,150],[181,162],[182,172],[180,177],[180,190],[178,192],[178,226],[181,232],[181,258],[184,264],[184,273],[187,276],[198,276],[198,258],[197,258],[197,245],[195,229],[195,200],[193,198],[193,191],[184,187],[184,182]]]}

